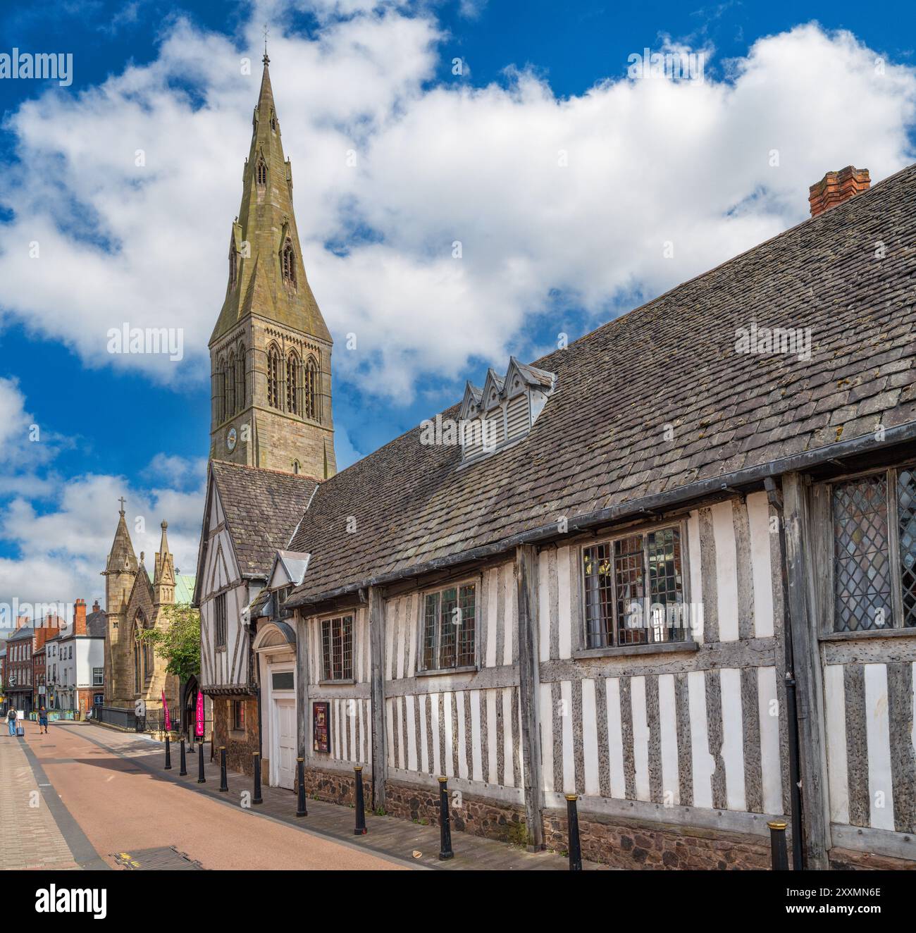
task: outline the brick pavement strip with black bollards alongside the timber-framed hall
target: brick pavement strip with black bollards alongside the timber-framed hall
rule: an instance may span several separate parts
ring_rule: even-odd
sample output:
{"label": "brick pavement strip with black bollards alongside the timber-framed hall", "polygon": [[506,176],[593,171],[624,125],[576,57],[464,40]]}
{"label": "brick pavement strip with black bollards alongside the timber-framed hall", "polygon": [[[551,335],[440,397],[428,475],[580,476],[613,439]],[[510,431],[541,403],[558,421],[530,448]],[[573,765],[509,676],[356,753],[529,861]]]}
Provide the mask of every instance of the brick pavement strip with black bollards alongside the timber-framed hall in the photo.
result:
{"label": "brick pavement strip with black bollards alongside the timber-framed hall", "polygon": [[[244,774],[228,772],[229,793],[219,792],[219,763],[210,760],[210,745],[204,745],[205,784],[197,783],[198,756],[187,755],[187,777],[179,777],[179,746],[173,745],[172,770],[165,771],[165,746],[129,732],[105,729],[104,726],[62,726],[79,729],[83,738],[103,745],[110,751],[131,759],[136,765],[162,778],[173,780],[189,790],[205,794],[225,803],[242,805],[244,791],[253,790],[252,779]],[[368,834],[354,835],[354,809],[326,801],[308,801],[309,815],[296,816],[296,795],[282,787],[262,787],[263,804],[251,807],[251,813],[270,817],[307,832],[318,833],[356,848],[365,849],[409,861],[414,867],[436,870],[554,870],[565,871],[569,863],[563,856],[548,852],[529,853],[524,849],[452,830],[451,847],[455,857],[439,861],[439,829],[419,826],[394,816],[366,814]],[[419,857],[413,853],[419,852]],[[295,866],[288,866],[295,868]],[[584,862],[586,870],[605,869]]]}

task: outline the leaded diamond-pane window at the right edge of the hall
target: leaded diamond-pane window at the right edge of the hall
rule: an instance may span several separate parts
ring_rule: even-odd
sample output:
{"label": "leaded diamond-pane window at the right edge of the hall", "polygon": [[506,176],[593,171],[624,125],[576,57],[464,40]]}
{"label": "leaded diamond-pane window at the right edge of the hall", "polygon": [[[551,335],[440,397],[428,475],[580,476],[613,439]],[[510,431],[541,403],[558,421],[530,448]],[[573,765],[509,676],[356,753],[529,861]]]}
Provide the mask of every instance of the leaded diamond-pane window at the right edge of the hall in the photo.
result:
{"label": "leaded diamond-pane window at the right edge of the hall", "polygon": [[833,628],[916,627],[916,467],[833,486]]}

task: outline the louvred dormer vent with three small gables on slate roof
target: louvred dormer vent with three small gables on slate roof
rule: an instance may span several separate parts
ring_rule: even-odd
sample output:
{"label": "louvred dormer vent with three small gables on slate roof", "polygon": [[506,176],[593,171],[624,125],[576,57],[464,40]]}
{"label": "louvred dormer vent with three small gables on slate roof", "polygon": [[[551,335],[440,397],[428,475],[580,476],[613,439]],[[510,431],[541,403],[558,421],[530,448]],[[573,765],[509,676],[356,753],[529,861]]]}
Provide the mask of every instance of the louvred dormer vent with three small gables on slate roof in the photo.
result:
{"label": "louvred dormer vent with three small gables on slate roof", "polygon": [[526,437],[553,392],[557,377],[509,358],[505,377],[487,371],[483,388],[467,383],[461,405],[462,462],[495,453]]}

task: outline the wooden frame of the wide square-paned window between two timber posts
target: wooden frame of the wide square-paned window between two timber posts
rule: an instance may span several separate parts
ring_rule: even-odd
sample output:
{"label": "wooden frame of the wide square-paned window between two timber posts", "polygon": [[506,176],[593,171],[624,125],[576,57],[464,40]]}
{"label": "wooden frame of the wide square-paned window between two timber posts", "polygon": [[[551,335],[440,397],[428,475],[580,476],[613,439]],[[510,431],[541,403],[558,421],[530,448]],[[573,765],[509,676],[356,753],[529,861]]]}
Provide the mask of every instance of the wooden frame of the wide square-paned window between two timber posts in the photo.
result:
{"label": "wooden frame of the wide square-paned window between two timber posts", "polygon": [[[574,656],[577,657],[604,657],[606,655],[616,655],[616,654],[652,654],[665,651],[695,651],[699,648],[699,642],[697,641],[697,633],[694,628],[694,619],[692,613],[688,609],[687,620],[689,622],[689,628],[687,628],[685,637],[679,641],[646,641],[646,642],[634,642],[634,643],[623,643],[618,642],[618,618],[617,618],[617,597],[616,594],[612,599],[611,608],[612,608],[612,632],[614,635],[614,640],[608,644],[590,646],[589,644],[589,616],[588,616],[588,593],[586,592],[586,575],[585,575],[585,551],[590,548],[597,548],[601,545],[608,545],[611,552],[611,560],[614,559],[614,544],[615,542],[622,540],[627,537],[642,536],[643,537],[643,570],[646,580],[646,593],[643,597],[645,602],[645,607],[651,607],[652,594],[648,592],[647,580],[648,580],[648,562],[647,562],[647,548],[648,541],[647,538],[649,535],[665,531],[668,528],[674,528],[680,535],[681,540],[681,592],[683,593],[683,605],[691,606],[691,595],[690,595],[690,546],[689,546],[689,528],[688,528],[688,519],[689,514],[677,516],[670,519],[659,519],[658,522],[643,523],[638,525],[631,525],[627,528],[621,528],[617,531],[611,533],[595,536],[589,540],[583,540],[576,544],[575,553],[576,553],[576,575],[577,575],[577,585],[578,585],[578,624],[575,626],[575,631],[578,637],[578,648],[574,649]],[[615,586],[617,580],[615,577]],[[644,608],[644,612],[646,611]]]}

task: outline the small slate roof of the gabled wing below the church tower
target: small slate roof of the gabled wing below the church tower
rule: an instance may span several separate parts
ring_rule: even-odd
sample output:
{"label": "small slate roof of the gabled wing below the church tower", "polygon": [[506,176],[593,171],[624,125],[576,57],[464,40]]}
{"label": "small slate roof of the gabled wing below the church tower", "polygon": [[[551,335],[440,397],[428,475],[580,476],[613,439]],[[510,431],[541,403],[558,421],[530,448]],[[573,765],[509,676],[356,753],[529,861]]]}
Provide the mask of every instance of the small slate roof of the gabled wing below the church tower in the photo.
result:
{"label": "small slate roof of the gabled wing below the church tower", "polygon": [[309,503],[318,480],[279,470],[212,460],[210,468],[239,569],[246,578],[267,578]]}

